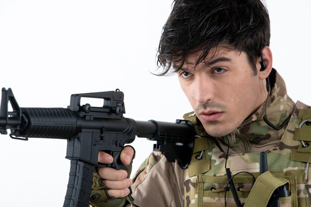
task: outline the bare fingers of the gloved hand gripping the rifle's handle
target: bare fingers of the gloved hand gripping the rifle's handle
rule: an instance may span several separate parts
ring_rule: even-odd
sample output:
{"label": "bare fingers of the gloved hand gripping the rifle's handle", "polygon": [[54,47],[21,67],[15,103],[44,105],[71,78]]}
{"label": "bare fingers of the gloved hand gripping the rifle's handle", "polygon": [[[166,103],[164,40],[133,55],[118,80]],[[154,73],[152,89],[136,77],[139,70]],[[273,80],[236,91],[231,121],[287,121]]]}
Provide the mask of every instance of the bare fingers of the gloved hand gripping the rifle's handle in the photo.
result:
{"label": "bare fingers of the gloved hand gripping the rifle's handle", "polygon": [[[125,146],[120,155],[121,162],[124,165],[129,165],[134,155],[134,149],[130,146]],[[110,164],[113,162],[113,157],[110,154],[100,151],[98,153],[98,162]],[[123,198],[130,193],[128,189],[132,185],[132,180],[127,178],[128,174],[125,170],[116,170],[110,167],[98,167],[98,175],[103,179],[102,184],[109,188],[107,190],[109,196],[115,198]]]}

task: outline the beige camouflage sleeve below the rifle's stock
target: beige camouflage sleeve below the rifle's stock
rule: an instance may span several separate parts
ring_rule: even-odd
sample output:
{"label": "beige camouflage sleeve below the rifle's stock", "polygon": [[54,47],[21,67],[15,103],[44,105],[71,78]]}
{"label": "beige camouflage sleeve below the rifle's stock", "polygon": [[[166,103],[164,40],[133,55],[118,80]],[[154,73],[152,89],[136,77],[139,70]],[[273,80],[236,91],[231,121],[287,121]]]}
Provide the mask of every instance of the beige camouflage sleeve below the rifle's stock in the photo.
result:
{"label": "beige camouflage sleeve below the rifle's stock", "polygon": [[133,178],[132,207],[181,207],[183,170],[153,152]]}

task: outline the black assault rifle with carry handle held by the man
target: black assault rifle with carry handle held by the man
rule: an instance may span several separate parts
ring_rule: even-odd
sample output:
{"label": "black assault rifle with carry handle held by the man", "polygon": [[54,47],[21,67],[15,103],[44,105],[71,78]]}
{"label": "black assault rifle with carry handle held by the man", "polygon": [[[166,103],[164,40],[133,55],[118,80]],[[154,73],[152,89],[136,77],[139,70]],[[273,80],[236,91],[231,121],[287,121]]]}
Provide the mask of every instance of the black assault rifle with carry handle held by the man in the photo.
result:
{"label": "black assault rifle with carry handle held by the man", "polygon": [[[80,105],[81,97],[102,99],[101,107]],[[63,207],[88,207],[94,168],[98,166],[125,169],[120,153],[135,137],[156,141],[169,162],[177,160],[187,168],[193,151],[194,128],[191,122],[176,123],[135,121],[123,117],[124,94],[115,91],[72,94],[68,108],[20,108],[12,90],[2,88],[0,134],[21,140],[28,138],[67,139],[66,158],[71,160],[69,181]],[[8,111],[10,102],[12,111]],[[98,162],[98,152],[114,157],[112,164]]]}

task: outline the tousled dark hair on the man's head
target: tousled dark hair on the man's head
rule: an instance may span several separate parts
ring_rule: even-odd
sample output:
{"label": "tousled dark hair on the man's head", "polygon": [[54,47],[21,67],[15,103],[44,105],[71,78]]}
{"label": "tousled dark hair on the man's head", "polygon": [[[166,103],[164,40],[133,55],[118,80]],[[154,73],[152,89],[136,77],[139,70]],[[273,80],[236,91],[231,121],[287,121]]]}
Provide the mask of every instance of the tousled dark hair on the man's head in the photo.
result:
{"label": "tousled dark hair on the man's head", "polygon": [[270,20],[261,0],[174,0],[158,46],[158,75],[170,74],[173,63],[180,69],[189,53],[202,51],[197,66],[220,46],[244,51],[256,75],[259,52],[269,43]]}

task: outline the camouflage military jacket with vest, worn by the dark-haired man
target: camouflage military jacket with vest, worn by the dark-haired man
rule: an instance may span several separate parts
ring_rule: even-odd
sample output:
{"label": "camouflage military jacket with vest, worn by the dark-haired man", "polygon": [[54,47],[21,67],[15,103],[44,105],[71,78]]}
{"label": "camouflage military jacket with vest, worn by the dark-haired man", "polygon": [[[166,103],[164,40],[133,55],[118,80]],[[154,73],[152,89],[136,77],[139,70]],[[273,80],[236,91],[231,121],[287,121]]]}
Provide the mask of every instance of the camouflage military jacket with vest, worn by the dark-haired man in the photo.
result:
{"label": "camouflage military jacket with vest, worn by the dark-haired man", "polygon": [[[257,178],[259,152],[266,151],[269,171],[276,176],[285,177],[290,183],[291,196],[282,200],[281,206],[310,207],[311,170],[306,171],[306,162],[293,155],[293,152],[301,148],[301,141],[294,140],[295,128],[302,122],[298,118],[299,109],[310,107],[299,101],[295,104],[287,96],[285,83],[278,73],[275,74],[273,84],[265,103],[266,114],[276,126],[290,117],[287,126],[279,131],[269,127],[263,120],[263,104],[227,138],[213,138],[207,135],[196,116],[192,116],[193,112],[185,114],[184,118],[195,124],[197,135],[200,136],[198,140],[201,139],[199,143],[195,143],[191,164],[186,170],[182,170],[177,163],[170,163],[158,152],[153,152],[134,176],[132,196],[135,201],[132,206],[224,207],[228,183],[225,163],[229,140],[227,167],[232,175],[247,171]],[[305,172],[309,172],[309,180],[305,179]],[[252,180],[248,174],[239,174],[234,178],[241,203],[249,195]],[[227,207],[235,207],[231,192],[226,193]]]}

